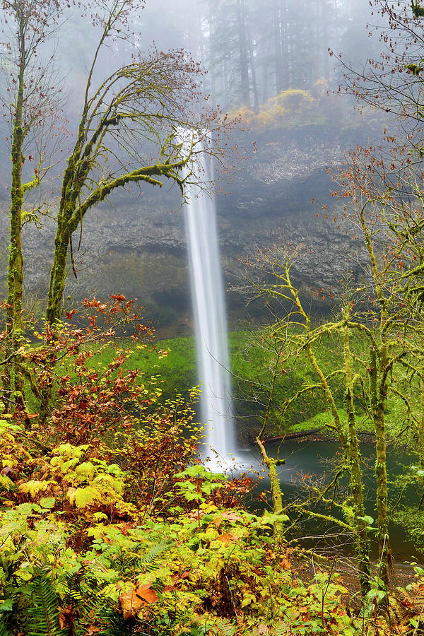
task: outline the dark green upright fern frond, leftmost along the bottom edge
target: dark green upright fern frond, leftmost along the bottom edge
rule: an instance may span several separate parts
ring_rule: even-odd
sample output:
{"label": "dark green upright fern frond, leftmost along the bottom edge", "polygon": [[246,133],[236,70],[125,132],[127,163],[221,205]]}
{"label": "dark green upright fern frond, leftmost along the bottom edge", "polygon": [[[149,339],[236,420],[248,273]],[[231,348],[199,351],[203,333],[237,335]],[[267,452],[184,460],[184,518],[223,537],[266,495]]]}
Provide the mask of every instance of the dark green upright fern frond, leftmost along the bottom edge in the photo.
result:
{"label": "dark green upright fern frond, leftmost along the bottom edge", "polygon": [[52,582],[44,573],[31,582],[30,604],[27,607],[28,636],[64,636],[59,627],[59,599]]}

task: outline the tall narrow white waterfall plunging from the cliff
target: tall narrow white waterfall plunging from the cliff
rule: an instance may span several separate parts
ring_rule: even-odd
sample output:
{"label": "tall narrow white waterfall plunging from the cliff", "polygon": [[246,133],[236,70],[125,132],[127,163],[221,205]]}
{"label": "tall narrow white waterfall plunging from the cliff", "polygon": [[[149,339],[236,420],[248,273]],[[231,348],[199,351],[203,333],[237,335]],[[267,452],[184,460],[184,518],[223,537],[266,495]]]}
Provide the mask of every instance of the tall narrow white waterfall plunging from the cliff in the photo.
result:
{"label": "tall narrow white waterfall plunging from the cliff", "polygon": [[[191,142],[192,134],[187,131],[181,134],[184,145]],[[197,143],[200,144],[201,141]],[[204,152],[199,154],[199,158],[199,179],[212,182],[211,158]],[[202,389],[201,418],[206,430],[202,456],[204,459],[210,457],[212,464],[225,464],[235,452],[235,431],[232,420],[230,360],[216,229],[216,206],[213,195],[199,191],[198,187],[189,187],[188,195],[189,202],[184,205],[184,217],[196,331],[197,367]]]}

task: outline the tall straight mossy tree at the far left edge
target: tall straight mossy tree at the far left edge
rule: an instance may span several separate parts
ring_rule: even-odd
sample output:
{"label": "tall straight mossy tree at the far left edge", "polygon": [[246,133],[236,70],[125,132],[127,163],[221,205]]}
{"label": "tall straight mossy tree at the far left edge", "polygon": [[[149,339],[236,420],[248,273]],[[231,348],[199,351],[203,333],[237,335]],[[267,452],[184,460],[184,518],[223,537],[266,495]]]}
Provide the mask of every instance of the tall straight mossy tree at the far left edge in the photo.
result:
{"label": "tall straight mossy tree at the far left edge", "polygon": [[[14,377],[4,374],[8,400],[23,405],[23,368],[18,354],[23,337],[23,251],[22,226],[25,195],[40,184],[42,143],[31,143],[42,129],[43,120],[52,116],[57,89],[51,59],[40,61],[40,48],[48,35],[56,30],[60,19],[59,0],[4,0],[1,25],[8,40],[3,44],[4,109],[8,114],[11,134],[11,208],[8,259],[8,298],[6,334],[10,355],[14,360]],[[40,142],[40,140],[38,140]],[[23,168],[27,158],[39,164],[33,177],[25,182]],[[30,153],[33,152],[35,156]]]}

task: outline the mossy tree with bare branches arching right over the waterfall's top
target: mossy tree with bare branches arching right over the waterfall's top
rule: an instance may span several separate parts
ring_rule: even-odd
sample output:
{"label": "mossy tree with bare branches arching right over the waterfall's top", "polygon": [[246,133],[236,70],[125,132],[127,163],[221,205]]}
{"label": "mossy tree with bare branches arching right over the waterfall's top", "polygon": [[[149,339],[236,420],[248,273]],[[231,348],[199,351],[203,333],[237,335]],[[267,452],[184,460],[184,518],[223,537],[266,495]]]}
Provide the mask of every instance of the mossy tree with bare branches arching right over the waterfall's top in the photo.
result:
{"label": "mossy tree with bare branches arching right over the waterfall's top", "polygon": [[[62,180],[47,301],[50,324],[61,315],[72,235],[78,225],[82,228],[86,213],[126,184],[160,187],[160,179],[171,179],[184,190],[187,177],[182,170],[196,160],[202,147],[193,143],[189,155],[183,155],[179,129],[191,129],[196,133],[193,139],[203,139],[205,129],[218,132],[222,126],[215,111],[202,109],[197,117],[202,95],[196,83],[201,69],[182,50],[134,53],[131,64],[95,86],[102,51],[111,38],[126,32],[133,7],[128,0],[112,0],[105,2],[105,16],[98,17],[100,40],[88,72],[76,143]],[[210,145],[206,151],[211,152]]]}

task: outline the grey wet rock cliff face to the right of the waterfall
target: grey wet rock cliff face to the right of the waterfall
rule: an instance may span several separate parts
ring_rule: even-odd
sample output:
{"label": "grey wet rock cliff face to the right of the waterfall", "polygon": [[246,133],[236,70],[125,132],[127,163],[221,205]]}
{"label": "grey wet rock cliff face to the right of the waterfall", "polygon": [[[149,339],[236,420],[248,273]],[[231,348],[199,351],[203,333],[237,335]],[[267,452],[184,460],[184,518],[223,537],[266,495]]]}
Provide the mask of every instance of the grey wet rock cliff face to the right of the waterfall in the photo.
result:
{"label": "grey wet rock cliff face to the right of the waterfall", "polygon": [[361,276],[363,249],[352,240],[351,224],[331,211],[337,202],[331,199],[334,184],[326,172],[341,161],[352,140],[321,132],[264,137],[231,185],[231,196],[218,198],[221,247],[230,275],[240,274],[235,254],[286,244],[301,246],[291,270],[297,285],[328,290],[347,271]]}

